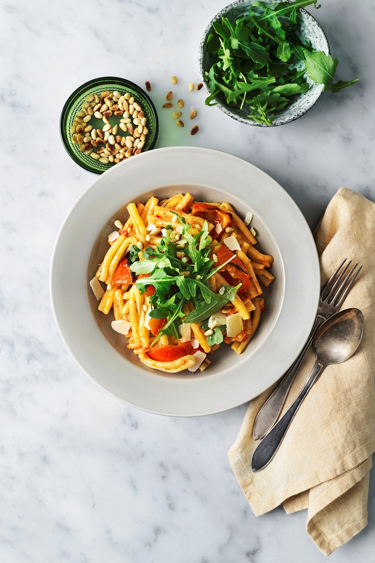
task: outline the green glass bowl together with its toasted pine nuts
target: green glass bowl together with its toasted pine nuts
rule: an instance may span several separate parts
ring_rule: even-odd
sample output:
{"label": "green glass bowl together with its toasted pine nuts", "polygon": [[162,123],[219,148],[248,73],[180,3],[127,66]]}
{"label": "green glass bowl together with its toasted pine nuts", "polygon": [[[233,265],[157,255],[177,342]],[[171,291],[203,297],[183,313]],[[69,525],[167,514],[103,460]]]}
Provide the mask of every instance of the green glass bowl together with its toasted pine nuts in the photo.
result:
{"label": "green glass bowl together with its toasted pine nuts", "polygon": [[150,96],[123,78],[96,78],[67,99],[60,118],[67,153],[89,172],[102,174],[115,164],[155,147],[159,119]]}

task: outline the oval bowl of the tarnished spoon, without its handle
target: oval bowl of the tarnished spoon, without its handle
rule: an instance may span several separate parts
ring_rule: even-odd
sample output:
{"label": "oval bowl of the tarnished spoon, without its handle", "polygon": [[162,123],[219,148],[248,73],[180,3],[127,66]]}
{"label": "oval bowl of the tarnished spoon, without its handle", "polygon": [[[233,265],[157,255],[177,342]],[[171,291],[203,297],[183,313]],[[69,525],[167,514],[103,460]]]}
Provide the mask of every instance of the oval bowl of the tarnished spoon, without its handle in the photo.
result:
{"label": "oval bowl of the tarnished spoon, without its handle", "polygon": [[341,311],[323,323],[315,334],[315,355],[323,365],[340,364],[354,354],[362,334],[362,312],[359,309]]}

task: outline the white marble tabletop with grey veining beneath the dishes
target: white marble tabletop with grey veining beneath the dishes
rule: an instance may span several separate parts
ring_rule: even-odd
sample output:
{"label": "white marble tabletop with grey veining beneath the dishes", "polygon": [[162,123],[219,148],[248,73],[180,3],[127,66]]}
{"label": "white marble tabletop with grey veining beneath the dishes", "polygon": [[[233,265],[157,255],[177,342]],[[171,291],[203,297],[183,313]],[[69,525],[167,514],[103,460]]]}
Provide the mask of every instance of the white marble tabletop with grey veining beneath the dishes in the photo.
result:
{"label": "white marble tabletop with grey veining beneath the dishes", "polygon": [[[286,127],[242,126],[204,106],[197,46],[221,0],[112,0],[0,4],[2,254],[0,560],[3,563],[319,562],[306,513],[256,519],[228,464],[246,406],[215,416],[163,418],[121,404],[66,351],[51,314],[49,261],[66,213],[95,179],[65,153],[58,120],[67,96],[101,75],[153,85],[169,78],[199,110],[196,137],[160,109],[159,146],[231,152],[274,176],[314,226],[345,185],[375,198],[375,24],[369,0],[324,0],[317,17],[339,78],[358,86],[326,93]],[[141,158],[141,157],[140,157]],[[83,226],[84,229],[84,226]],[[375,561],[375,482],[369,524],[331,556]]]}

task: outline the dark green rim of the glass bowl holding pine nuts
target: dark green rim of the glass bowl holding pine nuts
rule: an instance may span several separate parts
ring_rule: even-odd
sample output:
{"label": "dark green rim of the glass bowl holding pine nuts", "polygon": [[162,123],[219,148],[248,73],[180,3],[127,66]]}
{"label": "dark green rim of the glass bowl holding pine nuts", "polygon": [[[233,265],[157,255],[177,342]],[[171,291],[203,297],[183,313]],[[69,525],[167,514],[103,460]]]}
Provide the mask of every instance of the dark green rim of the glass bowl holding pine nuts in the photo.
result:
{"label": "dark green rim of the glass bowl holding pine nuts", "polygon": [[79,164],[79,166],[81,168],[83,168],[84,170],[87,170],[88,172],[91,172],[92,174],[96,174],[97,176],[101,176],[104,172],[107,172],[107,170],[110,170],[111,168],[113,168],[113,166],[110,166],[109,168],[107,168],[107,170],[100,171],[100,170],[94,170],[91,167],[89,167],[87,164],[85,164],[84,162],[81,162],[76,157],[76,155],[73,153],[69,143],[67,143],[67,141],[66,141],[65,133],[64,133],[64,126],[65,126],[65,120],[66,120],[67,112],[69,111],[70,107],[75,103],[76,98],[79,95],[82,95],[80,92],[82,92],[83,90],[87,90],[88,88],[100,86],[100,84],[102,84],[102,83],[105,84],[106,82],[112,82],[114,84],[119,84],[119,86],[127,86],[128,85],[129,87],[133,88],[133,90],[137,91],[139,93],[139,95],[141,97],[143,97],[147,101],[147,103],[150,105],[152,117],[153,117],[154,122],[155,122],[155,131],[153,133],[153,138],[152,138],[151,144],[150,144],[149,148],[145,151],[146,153],[147,153],[147,151],[155,148],[155,145],[157,143],[157,139],[159,137],[159,117],[157,116],[155,104],[151,100],[150,96],[148,96],[148,94],[143,90],[143,88],[141,88],[141,86],[138,86],[138,84],[135,84],[135,82],[132,82],[132,81],[128,80],[127,78],[120,78],[120,77],[113,77],[113,76],[104,76],[104,77],[92,78],[91,80],[84,82],[83,84],[78,86],[78,88],[76,88],[70,94],[69,97],[67,97],[64,106],[62,106],[62,110],[61,110],[61,114],[60,114],[60,122],[59,122],[60,137],[61,137],[61,142],[64,145],[64,148],[65,148],[67,154],[69,154],[70,158],[73,159],[76,164]]}

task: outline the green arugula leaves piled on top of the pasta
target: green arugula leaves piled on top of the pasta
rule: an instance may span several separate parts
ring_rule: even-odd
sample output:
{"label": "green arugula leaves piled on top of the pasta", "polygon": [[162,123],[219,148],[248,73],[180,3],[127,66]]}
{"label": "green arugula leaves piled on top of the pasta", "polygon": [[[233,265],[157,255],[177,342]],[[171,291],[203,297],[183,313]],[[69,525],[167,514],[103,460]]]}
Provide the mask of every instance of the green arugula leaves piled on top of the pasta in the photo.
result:
{"label": "green arugula leaves piled on top of the pasta", "polygon": [[[204,222],[199,233],[191,235],[189,233],[191,226],[187,224],[184,217],[180,217],[177,213],[175,216],[182,225],[181,239],[177,242],[182,248],[177,248],[171,242],[170,229],[167,228],[166,235],[162,237],[156,248],[147,247],[143,251],[137,247],[134,247],[134,250],[130,249],[133,256],[137,256],[137,260],[129,266],[130,271],[137,275],[150,274],[137,279],[135,282],[137,288],[144,293],[148,286],[152,285],[156,290],[150,297],[151,318],[168,319],[164,327],[159,330],[153,344],[162,334],[179,338],[178,327],[185,316],[184,305],[191,303],[195,308],[183,322],[200,323],[222,309],[228,301],[233,301],[241,287],[241,284],[236,287],[222,285],[218,293],[211,289],[209,278],[224,264],[213,268],[214,262],[210,258],[212,238],[209,235],[207,222]],[[178,258],[179,250],[184,252],[187,261],[185,257],[184,261]],[[139,254],[141,260],[138,260],[138,253],[141,253]],[[218,333],[215,335],[216,340],[220,338]]]}

